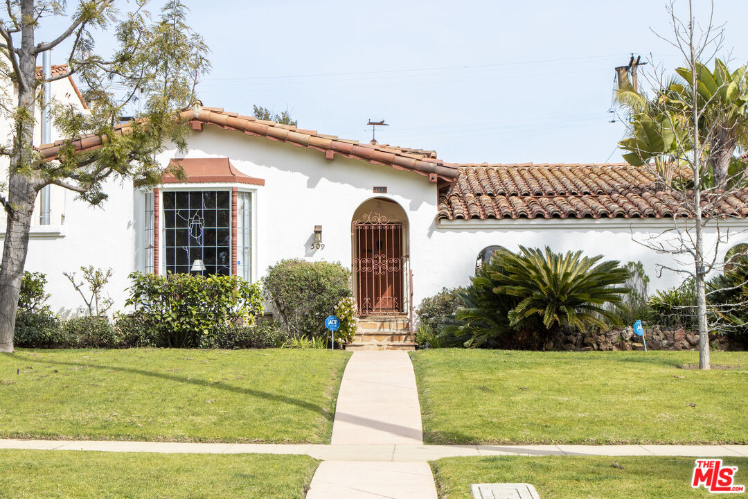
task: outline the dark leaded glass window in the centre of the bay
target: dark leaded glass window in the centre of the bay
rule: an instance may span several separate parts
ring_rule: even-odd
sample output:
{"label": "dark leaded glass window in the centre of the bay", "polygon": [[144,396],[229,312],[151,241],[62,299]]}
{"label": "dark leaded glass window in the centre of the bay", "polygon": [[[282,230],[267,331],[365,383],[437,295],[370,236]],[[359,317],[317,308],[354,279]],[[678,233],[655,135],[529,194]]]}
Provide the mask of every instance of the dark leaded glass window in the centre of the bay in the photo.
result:
{"label": "dark leaded glass window in the centre of the bay", "polygon": [[163,193],[164,249],[167,272],[190,272],[203,260],[204,274],[231,273],[230,192]]}

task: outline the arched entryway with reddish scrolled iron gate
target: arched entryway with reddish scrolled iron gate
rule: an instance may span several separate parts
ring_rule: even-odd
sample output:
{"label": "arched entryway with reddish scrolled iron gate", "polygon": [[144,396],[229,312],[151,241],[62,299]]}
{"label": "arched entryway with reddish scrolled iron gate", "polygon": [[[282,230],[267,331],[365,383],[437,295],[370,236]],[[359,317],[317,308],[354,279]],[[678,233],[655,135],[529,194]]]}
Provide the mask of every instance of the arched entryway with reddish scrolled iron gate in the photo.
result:
{"label": "arched entryway with reddish scrolled iron gate", "polygon": [[360,316],[408,310],[408,217],[398,203],[373,198],[353,214],[353,289]]}

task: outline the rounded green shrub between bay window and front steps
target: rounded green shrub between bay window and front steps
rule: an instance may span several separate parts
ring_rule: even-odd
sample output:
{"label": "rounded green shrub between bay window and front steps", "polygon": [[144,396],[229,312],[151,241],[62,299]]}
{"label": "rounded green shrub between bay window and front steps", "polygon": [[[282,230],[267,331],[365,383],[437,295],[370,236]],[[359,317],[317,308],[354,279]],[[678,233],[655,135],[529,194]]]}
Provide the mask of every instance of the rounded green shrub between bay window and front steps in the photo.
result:
{"label": "rounded green shrub between bay window and front steps", "polygon": [[353,296],[349,278],[340,263],[281,260],[268,269],[263,288],[293,337],[326,337],[325,317]]}

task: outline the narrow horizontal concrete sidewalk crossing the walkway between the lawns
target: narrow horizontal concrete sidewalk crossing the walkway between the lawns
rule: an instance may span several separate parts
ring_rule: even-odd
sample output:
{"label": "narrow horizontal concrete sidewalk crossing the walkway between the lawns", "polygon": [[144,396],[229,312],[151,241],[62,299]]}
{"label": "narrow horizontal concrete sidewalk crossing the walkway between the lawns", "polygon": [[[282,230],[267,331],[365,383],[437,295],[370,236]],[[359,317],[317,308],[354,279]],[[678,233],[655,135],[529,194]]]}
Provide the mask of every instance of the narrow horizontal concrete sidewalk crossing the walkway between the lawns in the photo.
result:
{"label": "narrow horizontal concrete sidewalk crossing the walkway between the lawns", "polygon": [[296,454],[323,461],[426,462],[458,456],[748,457],[748,445],[322,445],[0,439],[0,449],[189,454]]}

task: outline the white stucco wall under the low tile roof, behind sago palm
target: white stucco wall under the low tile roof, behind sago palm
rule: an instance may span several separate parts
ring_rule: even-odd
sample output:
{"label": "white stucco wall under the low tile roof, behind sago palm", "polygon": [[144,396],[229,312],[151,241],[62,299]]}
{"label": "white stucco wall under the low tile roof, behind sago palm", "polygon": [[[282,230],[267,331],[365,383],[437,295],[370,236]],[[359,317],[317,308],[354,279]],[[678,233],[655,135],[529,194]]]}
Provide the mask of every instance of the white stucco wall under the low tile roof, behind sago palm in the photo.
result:
{"label": "white stucco wall under the low tile roof, behind sago palm", "polygon": [[[675,238],[673,227],[672,218],[440,221],[431,228],[432,243],[434,248],[444,248],[445,251],[432,255],[432,265],[443,269],[438,281],[444,282],[444,286],[455,287],[468,283],[469,276],[474,273],[476,257],[489,245],[502,245],[512,251],[518,250],[520,245],[529,248],[550,246],[557,252],[582,250],[586,256],[602,254],[604,260],[642,262],[650,278],[651,293],[681,284],[686,277],[658,269],[657,264],[693,271],[690,256],[681,255],[676,259],[672,254],[658,254],[651,248],[660,242],[666,248],[673,248],[670,245]],[[684,222],[679,222],[678,227],[684,229]],[[713,258],[716,252],[716,261],[722,262],[729,248],[748,242],[747,229],[748,220],[744,219],[723,221],[720,230],[715,224],[708,224],[705,229],[708,257]],[[438,282],[431,285],[438,286]]]}

